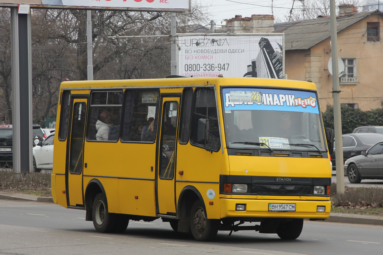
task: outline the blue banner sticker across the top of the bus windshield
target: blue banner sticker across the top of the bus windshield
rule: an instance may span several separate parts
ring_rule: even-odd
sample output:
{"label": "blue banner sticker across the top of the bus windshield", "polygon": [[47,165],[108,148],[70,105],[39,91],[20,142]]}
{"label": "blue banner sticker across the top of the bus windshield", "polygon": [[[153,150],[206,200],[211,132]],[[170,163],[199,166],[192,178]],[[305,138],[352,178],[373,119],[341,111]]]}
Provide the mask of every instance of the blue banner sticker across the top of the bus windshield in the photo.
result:
{"label": "blue banner sticker across the top of the bus windshield", "polygon": [[315,93],[284,89],[224,88],[226,110],[278,110],[319,114]]}

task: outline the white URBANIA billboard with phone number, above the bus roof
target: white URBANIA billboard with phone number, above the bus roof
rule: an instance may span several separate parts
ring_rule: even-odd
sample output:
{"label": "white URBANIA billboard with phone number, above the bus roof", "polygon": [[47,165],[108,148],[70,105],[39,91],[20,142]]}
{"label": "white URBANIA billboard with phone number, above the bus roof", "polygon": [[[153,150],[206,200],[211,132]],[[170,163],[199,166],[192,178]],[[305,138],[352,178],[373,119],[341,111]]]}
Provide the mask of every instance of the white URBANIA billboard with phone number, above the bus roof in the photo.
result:
{"label": "white URBANIA billboard with phone number, above the bus roof", "polygon": [[283,34],[178,37],[178,74],[282,79]]}

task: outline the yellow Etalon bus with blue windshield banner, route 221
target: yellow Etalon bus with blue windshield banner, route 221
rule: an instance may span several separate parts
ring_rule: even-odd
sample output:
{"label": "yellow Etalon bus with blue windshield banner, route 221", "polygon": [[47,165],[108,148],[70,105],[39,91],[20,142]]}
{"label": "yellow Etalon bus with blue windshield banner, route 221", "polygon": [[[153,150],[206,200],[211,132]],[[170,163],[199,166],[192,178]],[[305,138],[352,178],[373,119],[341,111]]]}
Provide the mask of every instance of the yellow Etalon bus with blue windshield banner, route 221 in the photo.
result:
{"label": "yellow Etalon bus with blue windshield banner, route 221", "polygon": [[170,76],[60,89],[52,197],[99,232],[162,218],[200,241],[219,230],[296,239],[304,218],[329,217],[333,130],[314,83]]}

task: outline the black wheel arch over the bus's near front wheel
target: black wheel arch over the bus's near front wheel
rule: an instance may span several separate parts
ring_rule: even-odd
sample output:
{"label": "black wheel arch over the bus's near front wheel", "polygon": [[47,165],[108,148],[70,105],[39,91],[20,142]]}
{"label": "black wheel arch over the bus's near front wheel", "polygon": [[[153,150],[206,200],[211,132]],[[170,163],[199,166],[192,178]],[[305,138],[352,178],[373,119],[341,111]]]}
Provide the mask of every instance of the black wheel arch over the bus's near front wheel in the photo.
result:
{"label": "black wheel arch over the bus's near front wheel", "polygon": [[182,189],[177,203],[178,232],[190,232],[190,212],[196,200],[201,201],[206,211],[201,193],[194,186],[188,185]]}

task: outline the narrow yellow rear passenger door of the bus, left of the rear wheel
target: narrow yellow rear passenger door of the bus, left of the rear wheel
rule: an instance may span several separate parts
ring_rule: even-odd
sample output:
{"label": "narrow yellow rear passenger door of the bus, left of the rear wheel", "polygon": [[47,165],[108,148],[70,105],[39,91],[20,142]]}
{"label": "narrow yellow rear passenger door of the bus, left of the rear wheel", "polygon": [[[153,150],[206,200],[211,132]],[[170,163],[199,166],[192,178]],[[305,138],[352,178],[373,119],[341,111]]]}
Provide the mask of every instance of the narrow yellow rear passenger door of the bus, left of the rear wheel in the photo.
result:
{"label": "narrow yellow rear passenger door of the bus, left of the rear wheel", "polygon": [[87,98],[74,98],[70,105],[65,186],[68,206],[83,207],[82,167]]}

